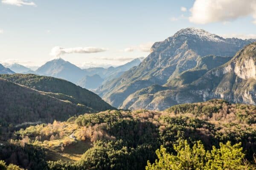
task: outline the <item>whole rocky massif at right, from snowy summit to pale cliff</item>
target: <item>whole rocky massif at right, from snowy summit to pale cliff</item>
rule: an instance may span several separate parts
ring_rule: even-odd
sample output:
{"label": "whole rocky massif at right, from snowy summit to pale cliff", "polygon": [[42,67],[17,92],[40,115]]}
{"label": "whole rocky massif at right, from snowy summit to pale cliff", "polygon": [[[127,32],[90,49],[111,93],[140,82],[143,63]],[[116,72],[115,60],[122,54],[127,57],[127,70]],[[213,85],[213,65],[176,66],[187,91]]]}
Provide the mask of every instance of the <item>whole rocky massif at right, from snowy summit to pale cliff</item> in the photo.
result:
{"label": "whole rocky massif at right, from snowy summit to pale cliff", "polygon": [[[199,28],[181,29],[172,37],[155,42],[140,65],[103,84],[96,93],[123,109],[164,110],[171,105],[212,98],[255,104],[256,80],[249,74],[255,74],[254,44],[242,50],[251,51],[246,52],[248,60],[244,55],[238,57],[242,52],[239,50],[255,41],[224,39]],[[229,63],[226,67],[225,62]]]}

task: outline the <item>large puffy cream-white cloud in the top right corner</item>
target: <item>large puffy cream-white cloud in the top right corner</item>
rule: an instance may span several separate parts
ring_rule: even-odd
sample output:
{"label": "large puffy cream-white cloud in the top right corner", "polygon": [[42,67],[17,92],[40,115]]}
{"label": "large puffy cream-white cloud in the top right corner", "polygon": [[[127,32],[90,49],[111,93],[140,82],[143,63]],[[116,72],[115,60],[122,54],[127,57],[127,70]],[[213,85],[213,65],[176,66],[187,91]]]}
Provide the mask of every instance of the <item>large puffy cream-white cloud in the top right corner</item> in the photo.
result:
{"label": "large puffy cream-white cloud in the top right corner", "polygon": [[195,0],[190,11],[192,23],[227,22],[252,15],[256,24],[256,0]]}

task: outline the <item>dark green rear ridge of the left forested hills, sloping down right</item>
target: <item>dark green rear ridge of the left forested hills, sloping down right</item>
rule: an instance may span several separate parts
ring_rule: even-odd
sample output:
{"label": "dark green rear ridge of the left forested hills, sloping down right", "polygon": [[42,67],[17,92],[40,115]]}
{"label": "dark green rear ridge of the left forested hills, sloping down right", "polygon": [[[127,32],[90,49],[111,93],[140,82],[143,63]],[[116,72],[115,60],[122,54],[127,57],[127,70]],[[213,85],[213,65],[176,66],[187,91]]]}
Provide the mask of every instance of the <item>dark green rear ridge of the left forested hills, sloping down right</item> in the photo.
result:
{"label": "dark green rear ridge of the left forested hills, sloping down right", "polygon": [[76,105],[85,105],[93,111],[113,109],[111,105],[104,102],[98,95],[63,79],[34,74],[3,74],[0,75],[0,78],[38,91],[49,92],[58,99],[68,100]]}

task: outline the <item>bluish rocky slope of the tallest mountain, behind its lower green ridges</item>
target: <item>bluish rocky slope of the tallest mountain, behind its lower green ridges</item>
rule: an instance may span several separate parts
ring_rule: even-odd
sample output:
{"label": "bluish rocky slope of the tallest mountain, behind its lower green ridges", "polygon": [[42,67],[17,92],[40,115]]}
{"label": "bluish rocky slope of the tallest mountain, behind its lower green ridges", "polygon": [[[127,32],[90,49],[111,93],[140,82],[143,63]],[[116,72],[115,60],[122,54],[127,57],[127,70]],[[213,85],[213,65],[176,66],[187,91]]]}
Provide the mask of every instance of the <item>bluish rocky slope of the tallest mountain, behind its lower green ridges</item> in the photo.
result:
{"label": "bluish rocky slope of the tallest mountain, behind its lower green ridges", "polygon": [[[186,28],[184,30],[191,30]],[[179,32],[179,31],[178,31]],[[150,85],[164,85],[170,77],[194,68],[198,58],[207,55],[234,56],[244,45],[254,40],[215,37],[221,41],[201,38],[190,34],[174,34],[161,42],[155,42],[151,53],[136,68],[131,68],[121,77],[107,85],[99,87],[97,94],[115,107],[122,107],[122,102],[136,91]],[[210,34],[210,33],[209,33]],[[208,33],[207,33],[208,35]],[[210,34],[214,35],[214,34]]]}

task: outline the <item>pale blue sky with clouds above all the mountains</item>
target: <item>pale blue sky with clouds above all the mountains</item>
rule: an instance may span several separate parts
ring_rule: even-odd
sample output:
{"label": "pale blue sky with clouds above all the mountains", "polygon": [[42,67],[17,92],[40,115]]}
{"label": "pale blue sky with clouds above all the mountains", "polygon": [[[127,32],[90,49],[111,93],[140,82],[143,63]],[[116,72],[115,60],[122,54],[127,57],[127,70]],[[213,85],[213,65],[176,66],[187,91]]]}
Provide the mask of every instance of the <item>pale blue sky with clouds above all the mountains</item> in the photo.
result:
{"label": "pale blue sky with clouds above all the mountains", "polygon": [[0,0],[0,63],[79,67],[147,57],[182,28],[256,38],[256,0]]}

